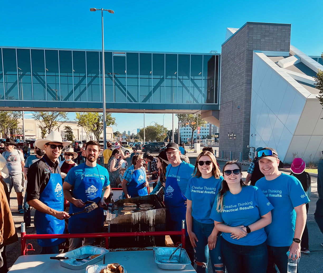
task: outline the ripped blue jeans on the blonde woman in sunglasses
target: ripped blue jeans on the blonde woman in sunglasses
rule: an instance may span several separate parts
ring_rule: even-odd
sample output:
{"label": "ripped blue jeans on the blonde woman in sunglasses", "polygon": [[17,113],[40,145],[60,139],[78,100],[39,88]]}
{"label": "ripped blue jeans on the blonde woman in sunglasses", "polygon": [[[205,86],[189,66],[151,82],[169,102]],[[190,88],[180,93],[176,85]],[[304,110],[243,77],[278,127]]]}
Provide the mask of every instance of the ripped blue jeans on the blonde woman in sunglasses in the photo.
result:
{"label": "ripped blue jeans on the blonde woman in sunglasses", "polygon": [[212,263],[213,272],[220,272],[224,266],[221,255],[221,232],[218,234],[215,248],[209,250],[207,245],[207,239],[211,235],[214,228],[214,224],[203,224],[193,219],[192,231],[195,233],[198,242],[196,248],[194,248],[194,261],[197,265],[197,273],[207,273],[207,264],[209,262],[209,254]]}

